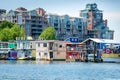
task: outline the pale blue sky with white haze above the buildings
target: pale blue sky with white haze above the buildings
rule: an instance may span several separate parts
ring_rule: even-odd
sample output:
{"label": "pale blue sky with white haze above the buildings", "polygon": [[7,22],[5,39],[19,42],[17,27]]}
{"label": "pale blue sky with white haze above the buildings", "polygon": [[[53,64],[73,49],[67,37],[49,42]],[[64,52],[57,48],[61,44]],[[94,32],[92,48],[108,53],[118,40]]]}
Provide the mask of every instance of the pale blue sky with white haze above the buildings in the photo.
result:
{"label": "pale blue sky with white haze above the buildings", "polygon": [[47,13],[79,17],[80,10],[85,9],[88,3],[96,3],[98,9],[103,11],[108,27],[115,31],[114,39],[120,41],[120,0],[0,0],[0,9],[43,8]]}

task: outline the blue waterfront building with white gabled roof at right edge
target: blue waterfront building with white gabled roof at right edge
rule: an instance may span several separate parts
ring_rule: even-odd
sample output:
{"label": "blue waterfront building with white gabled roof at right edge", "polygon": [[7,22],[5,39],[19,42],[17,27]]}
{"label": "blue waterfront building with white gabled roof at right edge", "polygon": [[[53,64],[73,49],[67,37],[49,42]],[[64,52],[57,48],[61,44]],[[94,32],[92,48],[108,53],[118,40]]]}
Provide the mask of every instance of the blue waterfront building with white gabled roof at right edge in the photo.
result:
{"label": "blue waterfront building with white gabled roof at right edge", "polygon": [[85,44],[86,53],[94,54],[94,58],[119,57],[120,42],[110,39],[89,38],[81,42]]}

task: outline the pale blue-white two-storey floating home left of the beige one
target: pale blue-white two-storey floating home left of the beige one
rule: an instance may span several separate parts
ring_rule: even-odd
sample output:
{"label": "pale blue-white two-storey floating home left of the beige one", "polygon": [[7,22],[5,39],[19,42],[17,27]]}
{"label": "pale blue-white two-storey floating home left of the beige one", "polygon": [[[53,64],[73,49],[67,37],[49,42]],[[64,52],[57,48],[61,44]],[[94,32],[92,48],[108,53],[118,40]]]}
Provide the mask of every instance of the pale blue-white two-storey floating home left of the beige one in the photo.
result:
{"label": "pale blue-white two-storey floating home left of the beige one", "polygon": [[18,52],[17,59],[35,58],[35,41],[26,40],[25,38],[17,38],[16,44],[16,50]]}

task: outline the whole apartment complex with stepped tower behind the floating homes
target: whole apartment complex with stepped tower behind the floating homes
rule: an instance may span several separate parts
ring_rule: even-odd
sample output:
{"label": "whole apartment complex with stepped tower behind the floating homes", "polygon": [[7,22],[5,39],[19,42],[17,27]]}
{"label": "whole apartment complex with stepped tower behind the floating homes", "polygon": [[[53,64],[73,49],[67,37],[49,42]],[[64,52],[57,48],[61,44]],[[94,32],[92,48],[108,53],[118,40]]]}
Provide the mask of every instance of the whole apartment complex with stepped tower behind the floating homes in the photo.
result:
{"label": "whole apartment complex with stepped tower behind the floating homes", "polygon": [[80,17],[68,15],[46,14],[42,8],[27,10],[23,7],[10,10],[6,19],[24,27],[25,34],[35,39],[47,26],[53,26],[58,40],[66,40],[70,37],[78,37],[79,41],[87,38],[113,39],[114,31],[107,26],[107,20],[103,19],[103,12],[97,8],[97,4],[87,4],[80,11]]}

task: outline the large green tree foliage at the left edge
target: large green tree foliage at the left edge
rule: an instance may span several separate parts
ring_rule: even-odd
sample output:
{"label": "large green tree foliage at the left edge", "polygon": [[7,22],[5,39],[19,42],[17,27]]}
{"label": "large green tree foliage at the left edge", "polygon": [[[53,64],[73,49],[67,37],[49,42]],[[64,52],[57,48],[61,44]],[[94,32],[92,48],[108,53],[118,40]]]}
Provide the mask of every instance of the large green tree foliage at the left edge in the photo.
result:
{"label": "large green tree foliage at the left edge", "polygon": [[16,37],[24,37],[24,29],[18,24],[14,24],[8,21],[3,21],[0,24],[0,40],[9,41],[15,40]]}

